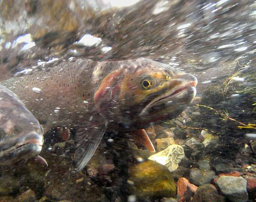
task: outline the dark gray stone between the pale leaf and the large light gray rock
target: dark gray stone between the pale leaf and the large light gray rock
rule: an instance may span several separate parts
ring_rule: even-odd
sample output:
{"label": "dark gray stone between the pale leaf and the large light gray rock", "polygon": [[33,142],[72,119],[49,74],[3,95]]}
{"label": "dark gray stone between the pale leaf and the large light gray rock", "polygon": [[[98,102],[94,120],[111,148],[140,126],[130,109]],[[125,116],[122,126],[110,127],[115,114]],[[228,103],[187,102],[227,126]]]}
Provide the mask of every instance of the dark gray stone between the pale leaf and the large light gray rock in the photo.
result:
{"label": "dark gray stone between the pale leaf and the large light gray rock", "polygon": [[199,168],[192,168],[190,171],[190,182],[196,186],[201,186],[207,183],[211,183],[215,172],[212,170],[202,171]]}

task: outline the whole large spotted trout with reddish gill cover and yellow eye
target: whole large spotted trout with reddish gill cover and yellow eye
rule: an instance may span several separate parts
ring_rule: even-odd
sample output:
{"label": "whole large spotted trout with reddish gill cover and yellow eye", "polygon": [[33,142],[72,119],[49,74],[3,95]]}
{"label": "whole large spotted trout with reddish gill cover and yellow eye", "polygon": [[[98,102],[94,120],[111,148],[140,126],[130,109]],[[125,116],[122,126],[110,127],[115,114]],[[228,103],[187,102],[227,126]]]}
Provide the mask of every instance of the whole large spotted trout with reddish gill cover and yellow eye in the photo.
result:
{"label": "whole large spotted trout with reddish gill cover and yellow eye", "polygon": [[94,154],[106,130],[130,131],[151,151],[143,130],[177,117],[193,100],[197,79],[146,58],[95,62],[77,59],[13,77],[2,85],[24,102],[47,131],[76,129],[77,171]]}

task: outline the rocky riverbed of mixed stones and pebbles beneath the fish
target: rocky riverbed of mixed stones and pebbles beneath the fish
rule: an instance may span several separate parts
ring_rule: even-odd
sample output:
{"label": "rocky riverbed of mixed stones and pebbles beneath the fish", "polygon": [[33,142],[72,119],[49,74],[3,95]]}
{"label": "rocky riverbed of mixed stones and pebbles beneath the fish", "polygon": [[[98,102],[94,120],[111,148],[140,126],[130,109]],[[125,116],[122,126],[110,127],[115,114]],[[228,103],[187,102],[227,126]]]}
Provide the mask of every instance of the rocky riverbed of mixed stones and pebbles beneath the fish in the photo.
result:
{"label": "rocky riverbed of mixed stones and pebbles beneath the fish", "polygon": [[[210,125],[205,115],[194,105],[148,129],[156,155],[128,134],[106,134],[79,173],[73,137],[63,141],[50,131],[41,152],[48,167],[31,160],[0,168],[0,202],[254,201],[255,139],[232,135],[229,122]],[[164,165],[156,162],[166,154]]]}

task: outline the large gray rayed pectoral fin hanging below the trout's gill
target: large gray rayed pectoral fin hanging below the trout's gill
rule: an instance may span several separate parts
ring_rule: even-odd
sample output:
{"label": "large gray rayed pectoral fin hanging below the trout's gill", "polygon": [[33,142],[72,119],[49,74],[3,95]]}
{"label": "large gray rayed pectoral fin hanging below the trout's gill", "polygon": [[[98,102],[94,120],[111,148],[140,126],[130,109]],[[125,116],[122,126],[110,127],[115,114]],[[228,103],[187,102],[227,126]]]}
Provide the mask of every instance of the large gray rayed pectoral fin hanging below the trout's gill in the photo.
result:
{"label": "large gray rayed pectoral fin hanging below the trout's gill", "polygon": [[103,126],[100,127],[99,123],[88,122],[84,125],[80,125],[76,131],[75,164],[77,172],[81,171],[91,159],[106,131],[106,125],[103,124]]}

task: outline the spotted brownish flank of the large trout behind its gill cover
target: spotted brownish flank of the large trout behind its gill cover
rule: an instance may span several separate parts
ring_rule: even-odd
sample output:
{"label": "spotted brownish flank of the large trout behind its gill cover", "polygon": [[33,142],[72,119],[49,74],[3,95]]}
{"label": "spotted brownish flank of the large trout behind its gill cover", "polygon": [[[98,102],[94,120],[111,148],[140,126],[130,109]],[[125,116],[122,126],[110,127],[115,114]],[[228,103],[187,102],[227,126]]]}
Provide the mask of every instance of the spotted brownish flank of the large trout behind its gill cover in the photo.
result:
{"label": "spotted brownish flank of the large trout behind its gill cover", "polygon": [[90,119],[95,89],[112,67],[113,62],[63,62],[50,71],[5,80],[3,85],[20,97],[46,130],[68,127]]}

